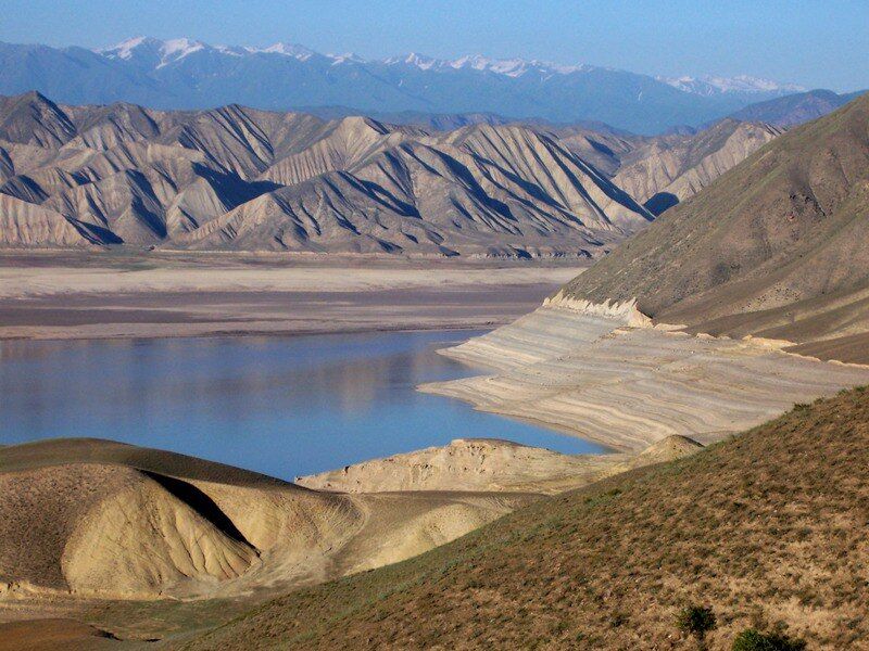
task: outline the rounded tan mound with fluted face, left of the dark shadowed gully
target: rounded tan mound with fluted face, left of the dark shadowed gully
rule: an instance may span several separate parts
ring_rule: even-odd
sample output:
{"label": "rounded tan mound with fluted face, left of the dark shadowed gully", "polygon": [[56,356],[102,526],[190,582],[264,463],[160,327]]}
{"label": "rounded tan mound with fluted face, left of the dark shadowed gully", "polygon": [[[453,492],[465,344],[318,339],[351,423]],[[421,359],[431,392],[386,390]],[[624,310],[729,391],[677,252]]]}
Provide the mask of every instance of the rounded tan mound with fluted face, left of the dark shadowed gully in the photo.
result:
{"label": "rounded tan mound with fluted face, left of the dark shadowed gully", "polygon": [[180,481],[167,489],[168,481],[84,463],[3,473],[0,580],[12,591],[151,596],[234,578],[257,562],[207,498]]}

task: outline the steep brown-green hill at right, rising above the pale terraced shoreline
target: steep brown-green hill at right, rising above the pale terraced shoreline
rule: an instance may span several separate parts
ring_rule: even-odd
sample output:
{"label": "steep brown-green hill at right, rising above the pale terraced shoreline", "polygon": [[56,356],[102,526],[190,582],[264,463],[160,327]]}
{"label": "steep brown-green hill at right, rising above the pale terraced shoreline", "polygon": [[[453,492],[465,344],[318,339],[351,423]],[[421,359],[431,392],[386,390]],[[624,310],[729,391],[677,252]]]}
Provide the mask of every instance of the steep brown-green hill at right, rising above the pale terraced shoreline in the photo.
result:
{"label": "steep brown-green hill at right, rising above the pale terraced shoreline", "polygon": [[[789,131],[566,288],[658,321],[796,342],[869,328],[869,97]],[[862,340],[841,349],[867,361]]]}

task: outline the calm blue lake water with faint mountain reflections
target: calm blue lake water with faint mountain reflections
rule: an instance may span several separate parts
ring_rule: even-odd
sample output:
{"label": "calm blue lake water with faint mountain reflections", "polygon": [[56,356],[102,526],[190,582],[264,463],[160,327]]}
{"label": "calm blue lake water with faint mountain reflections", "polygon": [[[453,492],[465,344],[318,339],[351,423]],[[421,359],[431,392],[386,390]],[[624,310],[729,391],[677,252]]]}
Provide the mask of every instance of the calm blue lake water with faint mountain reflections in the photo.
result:
{"label": "calm blue lake water with faint mountain reflections", "polygon": [[475,334],[0,342],[0,444],[112,438],[288,480],[461,437],[602,451],[415,391],[475,374],[434,353]]}

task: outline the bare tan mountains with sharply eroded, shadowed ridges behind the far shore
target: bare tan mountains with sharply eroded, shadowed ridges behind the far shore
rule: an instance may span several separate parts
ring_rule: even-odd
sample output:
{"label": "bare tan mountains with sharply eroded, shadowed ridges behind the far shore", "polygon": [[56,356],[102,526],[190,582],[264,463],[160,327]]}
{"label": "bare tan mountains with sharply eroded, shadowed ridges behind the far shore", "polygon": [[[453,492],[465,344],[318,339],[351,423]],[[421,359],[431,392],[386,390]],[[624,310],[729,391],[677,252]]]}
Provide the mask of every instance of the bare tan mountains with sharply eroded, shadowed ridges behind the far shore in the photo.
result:
{"label": "bare tan mountains with sharply eroded, shadowed ridges behind the far shore", "polygon": [[778,132],[438,131],[30,92],[0,99],[0,245],[596,257]]}

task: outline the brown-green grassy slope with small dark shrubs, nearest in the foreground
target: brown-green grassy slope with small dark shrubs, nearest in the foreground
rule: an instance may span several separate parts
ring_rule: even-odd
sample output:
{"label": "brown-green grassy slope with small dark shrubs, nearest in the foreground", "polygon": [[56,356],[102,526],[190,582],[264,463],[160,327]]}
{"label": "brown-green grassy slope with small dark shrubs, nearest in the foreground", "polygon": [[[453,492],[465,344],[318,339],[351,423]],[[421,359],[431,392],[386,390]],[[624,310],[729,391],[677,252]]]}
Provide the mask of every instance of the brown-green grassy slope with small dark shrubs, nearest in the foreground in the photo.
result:
{"label": "brown-green grassy slope with small dark shrubs, nearest in the foreground", "polygon": [[292,592],[191,649],[695,648],[755,626],[869,646],[869,391],[531,505],[410,561]]}

